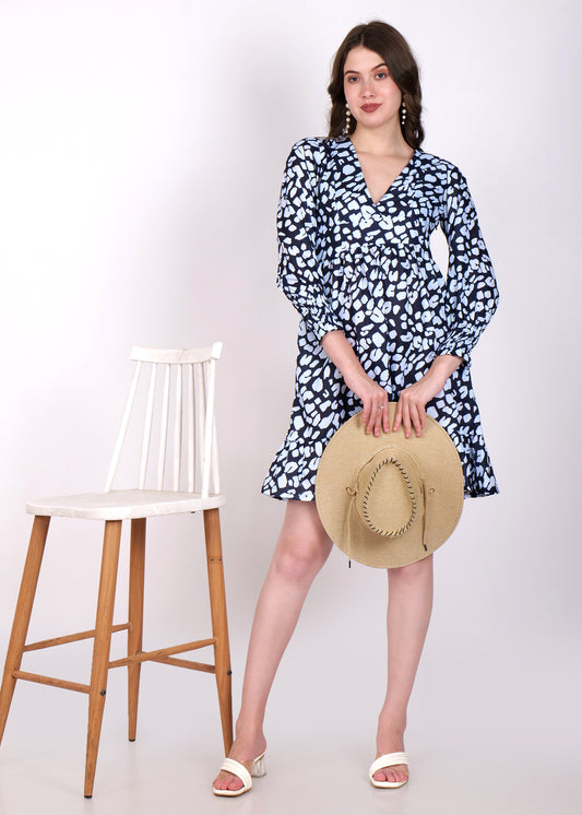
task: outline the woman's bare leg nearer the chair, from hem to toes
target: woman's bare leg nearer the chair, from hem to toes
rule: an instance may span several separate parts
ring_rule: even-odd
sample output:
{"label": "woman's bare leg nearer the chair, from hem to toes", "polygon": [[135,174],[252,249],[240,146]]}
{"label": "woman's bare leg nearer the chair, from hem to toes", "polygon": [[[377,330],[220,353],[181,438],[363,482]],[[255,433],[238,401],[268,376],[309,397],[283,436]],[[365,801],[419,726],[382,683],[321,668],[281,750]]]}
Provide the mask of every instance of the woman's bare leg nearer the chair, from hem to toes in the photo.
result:
{"label": "woman's bare leg nearer the chair, from hem to toes", "polygon": [[[229,753],[237,761],[250,761],[265,748],[263,719],[269,693],[307,593],[332,545],[314,501],[287,501],[252,624],[240,713]],[[221,772],[214,781],[214,787],[223,790],[241,786],[240,779],[228,772]]]}

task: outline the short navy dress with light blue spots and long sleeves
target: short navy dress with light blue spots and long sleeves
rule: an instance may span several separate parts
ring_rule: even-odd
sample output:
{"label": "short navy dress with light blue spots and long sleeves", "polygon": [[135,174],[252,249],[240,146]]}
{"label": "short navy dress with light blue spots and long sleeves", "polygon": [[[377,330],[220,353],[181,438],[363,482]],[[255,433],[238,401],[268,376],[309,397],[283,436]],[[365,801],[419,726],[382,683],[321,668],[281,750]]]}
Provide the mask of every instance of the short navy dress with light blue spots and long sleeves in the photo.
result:
{"label": "short navy dress with light blue spots and long sleeves", "polygon": [[[446,275],[429,245],[439,225],[449,247]],[[470,368],[498,291],[459,168],[415,150],[375,203],[349,139],[304,139],[285,167],[277,235],[277,285],[301,320],[290,426],[262,492],[313,500],[328,441],[361,410],[320,344],[338,329],[394,402],[436,356],[463,358],[427,413],[459,451],[465,495],[497,493]]]}

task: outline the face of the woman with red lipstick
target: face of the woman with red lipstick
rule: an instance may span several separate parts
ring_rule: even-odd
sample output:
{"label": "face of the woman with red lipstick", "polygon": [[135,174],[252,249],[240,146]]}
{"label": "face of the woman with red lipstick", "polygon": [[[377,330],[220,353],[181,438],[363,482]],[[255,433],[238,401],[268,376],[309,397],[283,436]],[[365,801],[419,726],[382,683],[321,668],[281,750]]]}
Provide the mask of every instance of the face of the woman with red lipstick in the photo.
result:
{"label": "face of the woman with red lipstick", "polygon": [[380,55],[364,46],[348,51],[344,93],[358,125],[377,128],[399,117],[402,93]]}

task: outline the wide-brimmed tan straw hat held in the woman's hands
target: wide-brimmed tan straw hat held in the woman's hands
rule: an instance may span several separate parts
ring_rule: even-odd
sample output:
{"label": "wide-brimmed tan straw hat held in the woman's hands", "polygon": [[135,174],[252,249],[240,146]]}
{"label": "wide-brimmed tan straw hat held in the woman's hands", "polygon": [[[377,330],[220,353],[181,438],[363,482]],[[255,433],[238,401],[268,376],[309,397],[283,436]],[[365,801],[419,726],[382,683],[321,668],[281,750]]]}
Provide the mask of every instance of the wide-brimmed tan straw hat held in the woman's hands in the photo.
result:
{"label": "wide-brimmed tan straw hat held in the woman's hands", "polygon": [[[389,404],[390,423],[396,405]],[[427,416],[423,435],[400,427],[366,434],[361,414],[332,437],[321,458],[316,501],[332,541],[348,558],[394,568],[427,557],[456,527],[463,470],[447,433]]]}

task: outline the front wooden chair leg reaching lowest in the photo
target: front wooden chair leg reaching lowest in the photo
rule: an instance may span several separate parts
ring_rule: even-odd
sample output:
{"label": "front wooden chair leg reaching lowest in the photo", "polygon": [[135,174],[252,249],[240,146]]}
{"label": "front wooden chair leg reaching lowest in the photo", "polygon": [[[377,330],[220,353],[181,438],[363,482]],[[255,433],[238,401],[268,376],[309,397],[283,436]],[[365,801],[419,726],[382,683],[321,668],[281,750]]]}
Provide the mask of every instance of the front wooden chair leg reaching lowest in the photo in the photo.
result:
{"label": "front wooden chair leg reaching lowest in the photo", "polygon": [[121,521],[106,521],[103,541],[102,571],[95,621],[95,643],[93,647],[93,665],[91,669],[91,689],[88,694],[87,753],[85,763],[85,798],[93,795],[97,751],[102,732],[103,710],[107,693],[107,671],[111,647],[111,627],[114,623],[115,592],[117,567],[119,563],[119,542]]}

